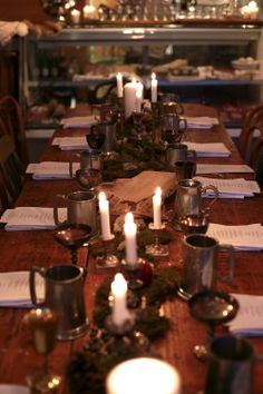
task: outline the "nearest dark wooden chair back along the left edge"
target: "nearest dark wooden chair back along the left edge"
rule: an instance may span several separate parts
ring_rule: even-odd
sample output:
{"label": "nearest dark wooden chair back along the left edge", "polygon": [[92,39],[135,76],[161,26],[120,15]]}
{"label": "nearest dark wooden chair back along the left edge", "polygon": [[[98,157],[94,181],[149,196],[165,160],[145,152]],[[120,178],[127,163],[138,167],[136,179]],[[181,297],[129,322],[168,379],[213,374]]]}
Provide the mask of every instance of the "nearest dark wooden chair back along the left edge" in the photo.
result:
{"label": "nearest dark wooden chair back along the left edge", "polygon": [[0,136],[0,196],[3,209],[12,207],[23,186],[25,166],[10,135]]}

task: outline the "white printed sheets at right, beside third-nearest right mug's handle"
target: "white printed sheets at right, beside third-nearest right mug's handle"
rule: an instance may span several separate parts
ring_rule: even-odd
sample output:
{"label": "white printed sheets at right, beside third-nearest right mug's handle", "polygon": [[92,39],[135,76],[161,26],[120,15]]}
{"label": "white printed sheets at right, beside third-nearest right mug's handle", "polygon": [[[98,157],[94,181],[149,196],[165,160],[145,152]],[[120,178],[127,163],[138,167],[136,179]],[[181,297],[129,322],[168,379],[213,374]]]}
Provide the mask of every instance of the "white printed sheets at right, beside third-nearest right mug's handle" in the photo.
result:
{"label": "white printed sheets at right, beside third-nearest right mug's handle", "polygon": [[[220,179],[206,177],[195,177],[194,179],[201,181],[203,186],[215,186],[218,190],[220,198],[253,197],[255,193],[261,193],[260,186],[255,180],[245,180],[243,178]],[[213,196],[214,194],[210,190],[207,190],[207,193],[204,195],[204,197]]]}

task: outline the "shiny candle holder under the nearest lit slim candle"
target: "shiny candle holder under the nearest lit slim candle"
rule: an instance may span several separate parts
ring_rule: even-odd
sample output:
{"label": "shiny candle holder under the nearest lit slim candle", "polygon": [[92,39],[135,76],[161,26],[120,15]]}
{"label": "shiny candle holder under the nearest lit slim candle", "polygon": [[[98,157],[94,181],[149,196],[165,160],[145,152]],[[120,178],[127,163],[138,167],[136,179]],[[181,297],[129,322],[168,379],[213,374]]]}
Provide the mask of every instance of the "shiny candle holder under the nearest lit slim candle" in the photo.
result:
{"label": "shiny candle holder under the nearest lit slim candle", "polygon": [[130,318],[121,325],[116,325],[113,316],[108,316],[105,322],[105,327],[110,338],[107,343],[107,351],[117,353],[118,355],[139,355],[149,352],[149,339],[135,328],[135,314],[130,314]]}

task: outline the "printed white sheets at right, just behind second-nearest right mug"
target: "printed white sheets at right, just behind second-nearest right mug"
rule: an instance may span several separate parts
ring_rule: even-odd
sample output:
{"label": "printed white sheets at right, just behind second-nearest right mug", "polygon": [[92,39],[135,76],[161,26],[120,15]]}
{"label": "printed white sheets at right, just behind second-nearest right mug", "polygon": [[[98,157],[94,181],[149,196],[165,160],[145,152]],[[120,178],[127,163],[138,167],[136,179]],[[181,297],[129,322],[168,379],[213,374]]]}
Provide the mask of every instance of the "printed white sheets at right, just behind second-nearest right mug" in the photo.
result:
{"label": "printed white sheets at right, just behind second-nearest right mug", "polygon": [[224,226],[211,223],[206,235],[216,238],[220,244],[228,244],[235,250],[263,250],[263,226]]}

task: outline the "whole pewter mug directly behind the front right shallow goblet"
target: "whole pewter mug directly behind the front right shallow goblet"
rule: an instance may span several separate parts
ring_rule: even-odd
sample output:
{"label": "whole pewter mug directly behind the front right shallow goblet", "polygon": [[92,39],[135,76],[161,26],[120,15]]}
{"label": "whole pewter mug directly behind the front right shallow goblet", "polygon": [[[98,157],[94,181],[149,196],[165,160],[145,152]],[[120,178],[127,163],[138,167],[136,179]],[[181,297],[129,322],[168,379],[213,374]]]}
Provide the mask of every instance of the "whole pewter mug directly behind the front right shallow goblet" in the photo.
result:
{"label": "whole pewter mug directly behind the front right shallow goblet", "polygon": [[[227,255],[228,274],[218,273],[218,254]],[[188,299],[192,295],[211,289],[215,279],[231,283],[234,276],[234,248],[220,245],[215,238],[204,234],[192,234],[184,239],[184,267],[179,295]]]}

